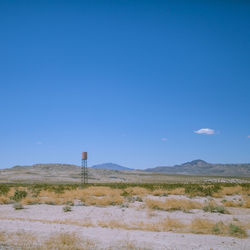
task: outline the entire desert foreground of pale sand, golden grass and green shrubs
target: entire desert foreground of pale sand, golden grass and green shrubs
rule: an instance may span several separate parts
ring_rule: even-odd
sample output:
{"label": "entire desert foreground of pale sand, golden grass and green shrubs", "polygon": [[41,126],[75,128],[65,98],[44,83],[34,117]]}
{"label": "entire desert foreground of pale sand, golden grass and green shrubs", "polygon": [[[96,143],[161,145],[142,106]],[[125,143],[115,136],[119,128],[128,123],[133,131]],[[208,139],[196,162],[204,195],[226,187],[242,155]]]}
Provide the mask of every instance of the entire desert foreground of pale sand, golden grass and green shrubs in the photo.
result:
{"label": "entire desert foreground of pale sand, golden grass and green shrubs", "polygon": [[0,184],[0,249],[248,249],[249,235],[249,183]]}

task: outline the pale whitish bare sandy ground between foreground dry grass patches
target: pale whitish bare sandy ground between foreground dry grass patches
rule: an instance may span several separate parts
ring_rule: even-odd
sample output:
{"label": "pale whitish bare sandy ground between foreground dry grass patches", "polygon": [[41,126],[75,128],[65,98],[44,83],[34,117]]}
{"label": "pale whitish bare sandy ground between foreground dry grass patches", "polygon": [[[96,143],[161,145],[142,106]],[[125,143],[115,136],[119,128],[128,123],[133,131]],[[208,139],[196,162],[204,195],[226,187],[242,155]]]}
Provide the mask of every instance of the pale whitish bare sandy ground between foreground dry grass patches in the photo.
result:
{"label": "pale whitish bare sandy ground between foreground dry grass patches", "polygon": [[[133,203],[129,208],[73,206],[71,212],[65,213],[63,206],[59,205],[27,205],[23,210],[14,210],[12,205],[0,205],[0,232],[28,232],[38,236],[40,240],[48,238],[53,233],[75,232],[81,238],[93,240],[97,249],[119,246],[119,242],[124,241],[133,242],[140,249],[250,249],[249,238],[111,229],[98,226],[98,221],[151,223],[166,217],[178,218],[185,223],[195,217],[213,221],[228,221],[233,218],[242,222],[250,221],[247,209],[232,209],[230,211],[232,214],[218,214],[205,213],[202,210],[192,210],[190,213],[149,211],[140,206],[140,202]],[[77,223],[89,223],[90,226],[78,226]],[[0,249],[5,248],[0,246]]]}

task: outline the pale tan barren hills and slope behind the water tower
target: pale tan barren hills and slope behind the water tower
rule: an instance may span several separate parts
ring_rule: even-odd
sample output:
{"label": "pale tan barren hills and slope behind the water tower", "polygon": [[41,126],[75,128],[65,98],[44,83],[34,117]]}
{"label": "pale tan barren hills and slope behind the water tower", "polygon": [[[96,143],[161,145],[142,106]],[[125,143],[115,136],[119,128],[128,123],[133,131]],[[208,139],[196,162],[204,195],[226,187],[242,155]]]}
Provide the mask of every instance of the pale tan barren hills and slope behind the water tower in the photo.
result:
{"label": "pale tan barren hills and slope behind the water tower", "polygon": [[[247,183],[249,171],[245,176],[197,176],[166,174],[142,170],[108,170],[88,168],[89,183]],[[80,183],[81,168],[69,164],[35,164],[15,166],[0,170],[0,182],[16,183]]]}

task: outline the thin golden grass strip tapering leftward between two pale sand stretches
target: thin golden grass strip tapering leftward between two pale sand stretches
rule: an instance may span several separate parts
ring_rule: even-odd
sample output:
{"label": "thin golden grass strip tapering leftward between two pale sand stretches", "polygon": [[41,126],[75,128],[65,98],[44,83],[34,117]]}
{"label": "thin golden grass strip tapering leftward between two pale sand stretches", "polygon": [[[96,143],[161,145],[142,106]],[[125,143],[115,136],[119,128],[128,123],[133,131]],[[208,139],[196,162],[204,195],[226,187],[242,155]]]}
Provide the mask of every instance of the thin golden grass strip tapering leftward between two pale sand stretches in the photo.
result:
{"label": "thin golden grass strip tapering leftward between two pale sand stretches", "polygon": [[[14,221],[15,220],[39,221],[43,223],[77,225],[77,226],[83,226],[83,227],[92,226],[92,227],[103,227],[103,228],[118,228],[118,229],[124,229],[124,230],[142,230],[142,231],[151,231],[151,232],[172,231],[172,232],[178,232],[178,233],[216,234],[216,235],[221,235],[221,236],[233,236],[233,237],[238,237],[238,238],[247,237],[247,233],[245,229],[249,228],[249,223],[245,225],[241,224],[239,221],[223,223],[221,221],[214,222],[211,220],[201,219],[201,218],[195,218],[194,220],[192,220],[190,224],[184,224],[179,219],[170,218],[170,217],[164,218],[154,223],[145,223],[143,221],[138,221],[134,223],[124,223],[121,220],[109,220],[109,221],[98,221],[97,224],[93,224],[91,221],[88,221],[88,220],[72,221],[68,219],[64,221],[58,221],[58,220],[49,221],[49,220],[24,219],[24,218],[5,218],[5,219],[14,220]],[[2,239],[5,239],[4,234],[0,234],[0,237],[2,237]],[[63,236],[60,236],[60,237],[63,238]],[[21,236],[20,238],[32,239],[31,236],[29,235]],[[65,237],[65,239],[68,239],[68,238]],[[34,241],[35,239],[32,239],[30,241],[26,240],[26,243],[32,245],[31,243]],[[53,240],[51,239],[50,241],[53,242]],[[1,238],[0,238],[0,242],[1,242]],[[19,245],[20,244],[21,243],[19,243]],[[66,243],[63,243],[63,245],[66,245]],[[56,248],[56,249],[67,249],[67,248]],[[75,249],[78,249],[78,248],[75,248]]]}

